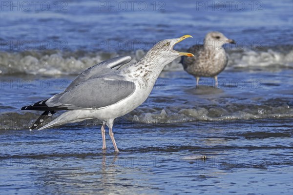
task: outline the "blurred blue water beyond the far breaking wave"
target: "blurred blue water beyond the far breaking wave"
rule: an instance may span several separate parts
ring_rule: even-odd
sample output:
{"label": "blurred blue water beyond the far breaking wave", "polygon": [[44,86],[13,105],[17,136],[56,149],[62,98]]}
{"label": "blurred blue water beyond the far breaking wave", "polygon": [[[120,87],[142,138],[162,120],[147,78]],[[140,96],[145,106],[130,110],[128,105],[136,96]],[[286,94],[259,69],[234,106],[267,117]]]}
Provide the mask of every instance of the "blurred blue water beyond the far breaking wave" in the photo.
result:
{"label": "blurred blue water beyond the far breaking wave", "polygon": [[[292,45],[293,41],[291,0],[44,2],[30,4],[30,9],[25,3],[1,7],[3,50],[11,49],[6,40],[20,41],[20,47],[12,46],[14,50],[149,49],[161,39],[190,34],[194,40],[181,44],[186,47],[203,41],[204,35],[213,30],[237,40],[241,48],[243,44]],[[28,42],[21,44],[23,40]]]}

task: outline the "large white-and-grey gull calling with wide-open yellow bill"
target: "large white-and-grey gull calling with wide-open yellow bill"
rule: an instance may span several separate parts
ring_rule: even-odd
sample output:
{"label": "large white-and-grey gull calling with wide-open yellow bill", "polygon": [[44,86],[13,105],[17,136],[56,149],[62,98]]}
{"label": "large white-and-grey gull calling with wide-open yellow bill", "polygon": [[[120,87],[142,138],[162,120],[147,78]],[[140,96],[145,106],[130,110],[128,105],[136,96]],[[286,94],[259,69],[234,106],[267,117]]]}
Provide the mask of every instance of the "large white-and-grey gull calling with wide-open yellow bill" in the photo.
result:
{"label": "large white-and-grey gull calling with wide-open yellow bill", "polygon": [[44,111],[30,131],[57,111],[66,112],[38,130],[98,118],[103,121],[102,149],[106,149],[106,125],[114,150],[118,153],[113,134],[114,119],[126,115],[146,100],[165,65],[180,56],[194,57],[191,53],[173,49],[175,44],[187,38],[192,36],[161,40],[142,59],[123,68],[120,67],[131,57],[109,59],[86,69],[63,92],[21,108]]}

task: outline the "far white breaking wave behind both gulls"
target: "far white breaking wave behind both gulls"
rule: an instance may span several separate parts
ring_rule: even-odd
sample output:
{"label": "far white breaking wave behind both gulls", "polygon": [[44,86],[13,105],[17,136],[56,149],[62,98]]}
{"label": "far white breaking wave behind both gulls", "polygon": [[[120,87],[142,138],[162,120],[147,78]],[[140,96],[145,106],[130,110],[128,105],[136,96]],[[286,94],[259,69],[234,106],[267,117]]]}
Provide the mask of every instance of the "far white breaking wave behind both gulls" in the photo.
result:
{"label": "far white breaking wave behind both gulls", "polygon": [[[132,62],[143,57],[145,51],[137,50],[129,53],[106,53],[85,51],[22,51],[0,53],[0,75],[76,75],[84,69],[101,61],[122,55],[131,56]],[[228,68],[293,68],[292,46],[262,48],[261,50],[228,51]],[[164,71],[183,70],[180,58],[168,64]]]}

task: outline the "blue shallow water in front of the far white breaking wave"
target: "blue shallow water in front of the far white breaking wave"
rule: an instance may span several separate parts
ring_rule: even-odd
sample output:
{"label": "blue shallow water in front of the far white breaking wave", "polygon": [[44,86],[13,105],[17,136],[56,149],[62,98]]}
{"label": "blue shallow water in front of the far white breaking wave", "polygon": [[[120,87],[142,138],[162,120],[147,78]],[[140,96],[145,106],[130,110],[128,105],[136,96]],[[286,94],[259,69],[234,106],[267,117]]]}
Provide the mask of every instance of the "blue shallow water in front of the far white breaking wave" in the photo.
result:
{"label": "blue shallow water in front of the far white breaking wave", "polygon": [[[291,71],[225,71],[219,80],[243,80],[245,87],[219,82],[197,89],[185,72],[164,72],[146,102],[116,120],[118,155],[108,135],[101,150],[97,120],[28,131],[38,113],[17,110],[57,93],[56,79],[71,77],[43,78],[51,83],[46,89],[4,88],[10,100],[1,104],[9,111],[1,117],[1,191],[292,194]],[[259,89],[251,88],[251,78],[262,81]],[[11,98],[15,93],[19,98]],[[202,155],[208,158],[197,159]]]}

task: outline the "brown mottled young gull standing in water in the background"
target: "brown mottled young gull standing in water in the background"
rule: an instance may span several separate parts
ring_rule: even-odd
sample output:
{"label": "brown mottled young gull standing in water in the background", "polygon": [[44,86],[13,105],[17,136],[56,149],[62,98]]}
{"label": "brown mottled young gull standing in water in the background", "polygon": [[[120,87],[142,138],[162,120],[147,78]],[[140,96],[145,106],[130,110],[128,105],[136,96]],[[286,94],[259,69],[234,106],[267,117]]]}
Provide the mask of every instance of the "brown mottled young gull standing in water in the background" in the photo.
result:
{"label": "brown mottled young gull standing in water in the background", "polygon": [[228,64],[228,57],[222,47],[226,43],[236,44],[235,40],[228,39],[220,32],[209,32],[204,45],[193,45],[188,49],[188,52],[195,55],[194,58],[182,57],[184,70],[196,78],[196,86],[200,77],[213,77],[215,86],[218,86],[218,74]]}

